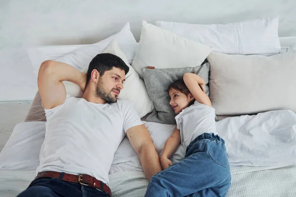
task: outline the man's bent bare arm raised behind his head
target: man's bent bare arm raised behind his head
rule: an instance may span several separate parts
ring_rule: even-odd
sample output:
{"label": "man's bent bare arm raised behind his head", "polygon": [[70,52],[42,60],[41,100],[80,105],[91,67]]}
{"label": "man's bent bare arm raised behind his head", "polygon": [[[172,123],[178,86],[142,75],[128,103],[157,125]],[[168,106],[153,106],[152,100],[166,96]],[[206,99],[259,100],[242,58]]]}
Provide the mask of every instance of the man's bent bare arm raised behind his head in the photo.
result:
{"label": "man's bent bare arm raised behind his head", "polygon": [[84,75],[73,66],[52,60],[41,64],[38,72],[38,89],[45,109],[54,108],[65,101],[66,89],[62,81],[71,81],[80,88],[85,85]]}

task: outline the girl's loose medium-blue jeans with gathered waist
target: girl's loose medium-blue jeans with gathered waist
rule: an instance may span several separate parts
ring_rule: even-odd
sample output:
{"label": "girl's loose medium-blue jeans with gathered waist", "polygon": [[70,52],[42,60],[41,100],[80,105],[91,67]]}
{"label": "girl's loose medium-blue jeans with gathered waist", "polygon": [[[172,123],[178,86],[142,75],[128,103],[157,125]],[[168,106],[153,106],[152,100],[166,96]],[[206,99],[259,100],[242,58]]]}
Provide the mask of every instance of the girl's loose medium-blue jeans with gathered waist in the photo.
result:
{"label": "girl's loose medium-blue jeans with gathered waist", "polygon": [[145,197],[224,197],[230,180],[224,140],[203,133],[188,145],[184,160],[151,178]]}

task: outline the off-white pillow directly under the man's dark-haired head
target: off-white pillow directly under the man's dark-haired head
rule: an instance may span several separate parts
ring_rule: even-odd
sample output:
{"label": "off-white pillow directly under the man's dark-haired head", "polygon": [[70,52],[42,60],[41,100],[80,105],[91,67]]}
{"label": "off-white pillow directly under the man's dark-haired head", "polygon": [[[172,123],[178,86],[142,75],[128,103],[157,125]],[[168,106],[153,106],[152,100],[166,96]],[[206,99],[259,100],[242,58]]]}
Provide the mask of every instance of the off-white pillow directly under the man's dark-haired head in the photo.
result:
{"label": "off-white pillow directly under the man's dark-haired head", "polygon": [[[111,53],[118,56],[130,68],[129,72],[125,75],[126,79],[123,83],[124,88],[120,91],[118,99],[131,101],[141,118],[151,112],[154,108],[154,105],[153,101],[148,96],[144,81],[140,79],[138,73],[134,70],[134,68],[128,64],[128,60],[123,51],[121,51],[121,49],[119,48],[116,39],[111,42],[104,53]],[[87,69],[88,66],[82,69],[82,72],[87,72]],[[77,91],[81,91],[78,85],[71,82],[67,84],[66,88],[71,88],[72,91],[74,90],[74,88]]]}

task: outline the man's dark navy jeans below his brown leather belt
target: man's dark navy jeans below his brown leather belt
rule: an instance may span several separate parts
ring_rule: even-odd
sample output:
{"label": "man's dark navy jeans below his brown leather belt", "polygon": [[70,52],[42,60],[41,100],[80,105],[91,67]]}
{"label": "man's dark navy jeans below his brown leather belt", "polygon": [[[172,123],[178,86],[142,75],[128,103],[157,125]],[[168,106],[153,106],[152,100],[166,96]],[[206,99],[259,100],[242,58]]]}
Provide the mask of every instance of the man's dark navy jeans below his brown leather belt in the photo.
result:
{"label": "man's dark navy jeans below his brown leather belt", "polygon": [[17,197],[109,197],[95,188],[60,179],[39,178]]}

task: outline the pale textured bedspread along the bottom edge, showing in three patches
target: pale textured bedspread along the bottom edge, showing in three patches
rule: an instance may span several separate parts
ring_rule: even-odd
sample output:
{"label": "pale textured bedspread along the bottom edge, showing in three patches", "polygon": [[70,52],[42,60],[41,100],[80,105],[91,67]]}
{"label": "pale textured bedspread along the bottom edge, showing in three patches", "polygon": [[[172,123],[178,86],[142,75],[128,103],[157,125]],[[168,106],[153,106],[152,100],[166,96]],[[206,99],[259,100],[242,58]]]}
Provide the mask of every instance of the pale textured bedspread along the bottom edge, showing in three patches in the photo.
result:
{"label": "pale textured bedspread along the bottom edge, showing in three patches", "polygon": [[[35,170],[0,170],[0,197],[15,197],[35,177]],[[143,172],[109,175],[112,197],[143,197],[148,185]],[[295,197],[296,166],[232,167],[227,197]]]}

